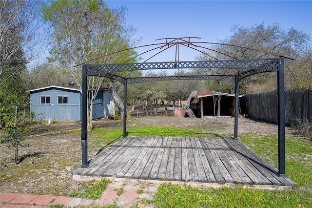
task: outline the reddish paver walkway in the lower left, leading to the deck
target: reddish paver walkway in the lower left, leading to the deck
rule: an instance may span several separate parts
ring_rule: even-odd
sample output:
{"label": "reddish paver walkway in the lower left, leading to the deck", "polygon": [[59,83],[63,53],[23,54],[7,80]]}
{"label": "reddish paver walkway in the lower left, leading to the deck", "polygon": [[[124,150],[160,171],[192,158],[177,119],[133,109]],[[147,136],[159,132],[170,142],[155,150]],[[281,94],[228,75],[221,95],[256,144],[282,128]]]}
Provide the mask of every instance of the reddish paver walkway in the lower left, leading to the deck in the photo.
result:
{"label": "reddish paver walkway in the lower left, leading to the deck", "polygon": [[[120,196],[117,191],[123,189]],[[142,189],[142,191],[138,191]],[[141,193],[142,192],[142,193]],[[65,208],[88,205],[109,205],[116,203],[120,208],[131,208],[138,204],[140,199],[154,199],[157,186],[150,186],[138,182],[129,184],[111,182],[98,200],[50,195],[31,195],[18,193],[0,193],[0,208],[49,208],[51,205],[64,205]],[[142,205],[138,205],[142,207]],[[154,205],[145,205],[153,208]]]}

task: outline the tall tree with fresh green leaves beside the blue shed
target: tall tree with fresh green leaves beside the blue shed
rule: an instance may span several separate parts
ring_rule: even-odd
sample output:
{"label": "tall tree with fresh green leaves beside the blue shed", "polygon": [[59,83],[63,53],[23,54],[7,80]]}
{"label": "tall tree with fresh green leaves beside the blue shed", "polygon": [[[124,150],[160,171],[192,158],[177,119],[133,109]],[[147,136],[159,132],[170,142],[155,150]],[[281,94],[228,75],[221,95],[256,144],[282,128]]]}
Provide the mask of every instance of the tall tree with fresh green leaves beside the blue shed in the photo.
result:
{"label": "tall tree with fresh green leaves beside the blue shed", "polygon": [[[81,91],[82,62],[124,62],[133,51],[113,53],[128,48],[133,27],[125,25],[125,8],[110,9],[103,0],[52,1],[43,8],[48,24],[51,61],[70,71]],[[98,57],[98,59],[96,59]],[[102,77],[88,77],[88,129],[92,128],[93,102],[103,85]],[[114,85],[111,85],[114,86]],[[115,97],[114,97],[115,98]]]}

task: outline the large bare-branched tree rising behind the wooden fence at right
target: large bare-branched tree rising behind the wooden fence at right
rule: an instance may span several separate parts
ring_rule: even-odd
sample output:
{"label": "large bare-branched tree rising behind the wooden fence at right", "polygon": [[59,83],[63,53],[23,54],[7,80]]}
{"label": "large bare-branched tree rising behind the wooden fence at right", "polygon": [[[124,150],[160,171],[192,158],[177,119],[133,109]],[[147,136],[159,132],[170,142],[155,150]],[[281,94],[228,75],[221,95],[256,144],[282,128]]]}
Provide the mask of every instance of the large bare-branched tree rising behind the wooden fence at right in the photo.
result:
{"label": "large bare-branched tree rising behind the wooden fence at right", "polygon": [[[232,34],[232,36],[220,41],[222,44],[215,45],[213,47],[214,52],[206,52],[218,60],[229,59],[229,57],[236,59],[289,57],[293,60],[285,59],[285,87],[312,85],[310,78],[312,70],[311,45],[309,44],[311,37],[308,34],[294,28],[290,28],[288,31],[282,30],[277,23],[269,26],[262,23],[249,27],[235,25],[232,28]],[[211,57],[201,55],[198,59],[210,60]],[[206,73],[229,74],[230,70],[233,69],[208,69]],[[240,83],[240,90],[243,93],[275,90],[277,87],[275,80],[276,73],[254,75]],[[226,91],[231,92],[231,89],[234,89],[233,83],[225,84]]]}

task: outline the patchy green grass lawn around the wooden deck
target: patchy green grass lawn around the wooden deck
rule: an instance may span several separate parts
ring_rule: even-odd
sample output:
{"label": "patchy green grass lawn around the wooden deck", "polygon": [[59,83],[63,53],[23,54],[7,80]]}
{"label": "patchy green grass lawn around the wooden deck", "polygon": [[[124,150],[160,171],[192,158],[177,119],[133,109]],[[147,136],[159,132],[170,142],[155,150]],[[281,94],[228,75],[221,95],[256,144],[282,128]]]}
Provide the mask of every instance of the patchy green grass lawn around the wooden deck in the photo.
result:
{"label": "patchy green grass lawn around the wooden deck", "polygon": [[[188,126],[145,126],[127,127],[128,136],[196,136],[216,137],[219,136],[214,130],[220,130],[223,126],[209,125],[205,127]],[[212,133],[210,133],[212,132]],[[66,134],[66,133],[64,133]],[[79,130],[67,134],[79,135]],[[122,126],[110,126],[95,128],[88,133],[88,145],[90,149],[100,149],[109,146],[122,138]],[[228,137],[229,135],[221,135]],[[263,135],[258,133],[239,134],[239,139],[268,162],[277,166],[277,134]],[[78,152],[78,154],[80,154]],[[77,159],[77,158],[76,158]],[[74,163],[69,158],[69,163]],[[78,158],[79,160],[79,158]],[[39,163],[5,168],[22,168],[33,171],[33,166]],[[75,160],[75,163],[77,161]],[[80,161],[78,161],[80,163]],[[51,165],[52,166],[52,165]],[[70,166],[66,164],[66,166]],[[7,171],[2,169],[2,174]],[[26,168],[26,169],[25,169]],[[4,170],[4,172],[3,172]],[[44,169],[50,171],[48,165]],[[42,172],[41,172],[42,173]],[[299,187],[292,191],[269,191],[258,189],[245,189],[242,187],[223,187],[200,189],[190,186],[162,184],[158,187],[155,200],[140,200],[133,207],[144,204],[154,204],[157,208],[202,208],[202,207],[305,207],[312,208],[312,142],[298,137],[286,138],[286,174],[295,181]],[[6,177],[2,175],[2,179]],[[7,178],[7,180],[10,180]],[[71,196],[88,197],[97,199],[107,187],[108,181],[88,182],[80,184],[80,190],[71,193]],[[27,186],[27,185],[25,185]],[[103,188],[104,187],[104,188]],[[52,192],[53,193],[53,192]],[[112,205],[112,207],[117,207]]]}

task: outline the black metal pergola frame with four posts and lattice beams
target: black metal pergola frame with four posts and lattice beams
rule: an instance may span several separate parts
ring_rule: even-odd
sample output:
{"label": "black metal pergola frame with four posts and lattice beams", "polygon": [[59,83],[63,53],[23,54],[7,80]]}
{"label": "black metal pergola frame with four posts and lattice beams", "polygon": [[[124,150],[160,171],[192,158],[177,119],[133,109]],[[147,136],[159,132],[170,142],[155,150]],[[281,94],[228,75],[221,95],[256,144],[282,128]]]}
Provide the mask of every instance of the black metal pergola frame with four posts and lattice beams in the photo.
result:
{"label": "black metal pergola frame with four posts and lattice beams", "polygon": [[[162,77],[122,77],[120,72],[154,69],[239,69],[226,75],[192,75],[192,76],[162,76]],[[81,119],[81,150],[82,166],[88,167],[87,143],[87,77],[100,76],[118,81],[124,85],[124,115],[123,136],[126,137],[126,107],[127,85],[133,83],[168,81],[168,80],[217,80],[235,83],[235,119],[234,139],[238,139],[238,89],[239,82],[249,76],[265,72],[277,72],[278,83],[278,175],[285,174],[285,105],[284,105],[284,58],[253,59],[253,60],[223,60],[223,61],[192,61],[192,62],[142,62],[114,64],[82,64],[82,119]]]}

